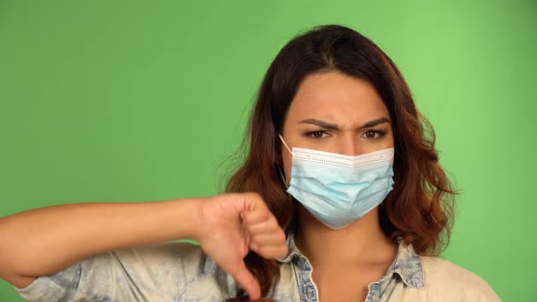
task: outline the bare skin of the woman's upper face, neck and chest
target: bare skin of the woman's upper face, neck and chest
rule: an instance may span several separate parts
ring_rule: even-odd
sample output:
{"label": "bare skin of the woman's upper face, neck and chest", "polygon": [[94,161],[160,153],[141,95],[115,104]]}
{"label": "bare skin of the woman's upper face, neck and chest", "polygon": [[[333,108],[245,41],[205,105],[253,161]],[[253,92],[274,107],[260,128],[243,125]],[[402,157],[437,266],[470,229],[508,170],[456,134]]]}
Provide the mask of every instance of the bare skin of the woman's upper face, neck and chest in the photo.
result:
{"label": "bare skin of the woman's upper face, neck and chest", "polygon": [[[283,138],[291,149],[347,156],[393,146],[390,114],[374,87],[339,73],[314,74],[303,80],[289,107]],[[291,154],[285,146],[281,156],[290,179]],[[367,286],[384,276],[397,253],[397,246],[380,228],[378,207],[349,227],[334,231],[299,206],[296,243],[313,267],[321,301],[363,301]]]}

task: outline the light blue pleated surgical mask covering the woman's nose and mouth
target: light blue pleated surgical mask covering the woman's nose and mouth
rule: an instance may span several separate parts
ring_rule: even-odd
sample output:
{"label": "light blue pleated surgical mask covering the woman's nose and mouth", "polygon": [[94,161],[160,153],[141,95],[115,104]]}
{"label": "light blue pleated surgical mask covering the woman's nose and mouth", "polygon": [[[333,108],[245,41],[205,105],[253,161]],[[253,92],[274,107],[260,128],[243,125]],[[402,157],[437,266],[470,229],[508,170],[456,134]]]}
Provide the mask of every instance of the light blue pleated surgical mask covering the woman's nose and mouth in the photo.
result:
{"label": "light blue pleated surgical mask covering the woman's nose and mouth", "polygon": [[379,206],[393,185],[393,148],[344,156],[293,147],[287,192],[325,226],[349,226]]}

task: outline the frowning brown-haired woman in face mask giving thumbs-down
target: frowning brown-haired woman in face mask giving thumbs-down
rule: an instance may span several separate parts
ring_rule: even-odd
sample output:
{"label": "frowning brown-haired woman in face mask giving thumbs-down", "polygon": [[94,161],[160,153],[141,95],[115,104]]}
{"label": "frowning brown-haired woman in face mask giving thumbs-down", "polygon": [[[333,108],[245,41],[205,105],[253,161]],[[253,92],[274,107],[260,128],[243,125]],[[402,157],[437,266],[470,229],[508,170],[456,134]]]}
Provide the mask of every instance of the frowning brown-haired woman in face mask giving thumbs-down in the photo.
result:
{"label": "frowning brown-haired woman in face mask giving thumbs-down", "polygon": [[[228,194],[0,220],[0,277],[31,301],[498,301],[436,257],[451,189],[396,65],[339,25],[265,76]],[[159,244],[176,238],[198,240]],[[158,244],[158,245],[157,245]]]}

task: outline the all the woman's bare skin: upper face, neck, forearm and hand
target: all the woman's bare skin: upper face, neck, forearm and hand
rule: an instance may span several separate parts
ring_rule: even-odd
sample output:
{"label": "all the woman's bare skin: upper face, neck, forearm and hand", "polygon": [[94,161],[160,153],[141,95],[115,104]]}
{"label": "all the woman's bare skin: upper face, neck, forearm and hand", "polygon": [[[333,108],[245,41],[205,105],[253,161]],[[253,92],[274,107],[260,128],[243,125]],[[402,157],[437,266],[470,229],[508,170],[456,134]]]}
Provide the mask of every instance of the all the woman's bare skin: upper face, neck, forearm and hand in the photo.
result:
{"label": "all the woman's bare skin: upper face, neck, forearm and hand", "polygon": [[[389,118],[388,110],[368,83],[337,73],[308,76],[289,108],[284,139],[290,147],[355,156],[393,146],[390,123],[362,127],[382,117]],[[290,179],[291,156],[282,150]],[[0,217],[0,237],[0,277],[21,288],[91,255],[189,237],[256,299],[258,282],[243,262],[248,250],[267,259],[288,253],[284,231],[255,193],[46,206]],[[297,246],[314,267],[320,299],[327,301],[364,300],[367,285],[384,275],[397,249],[380,230],[377,208],[339,231],[300,208]]]}

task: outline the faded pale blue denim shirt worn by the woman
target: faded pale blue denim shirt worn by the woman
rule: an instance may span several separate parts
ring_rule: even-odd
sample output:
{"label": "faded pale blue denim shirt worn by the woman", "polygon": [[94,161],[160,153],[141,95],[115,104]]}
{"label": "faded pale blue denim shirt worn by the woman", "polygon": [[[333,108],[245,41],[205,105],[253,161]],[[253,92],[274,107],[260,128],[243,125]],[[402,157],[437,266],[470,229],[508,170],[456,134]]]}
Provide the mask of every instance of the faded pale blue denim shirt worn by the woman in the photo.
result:
{"label": "faded pale blue denim shirt worn by the woman", "polygon": [[[279,283],[269,297],[319,301],[309,260],[299,252],[292,236],[288,245],[288,256],[279,259]],[[15,289],[28,301],[220,302],[237,297],[238,283],[200,247],[175,242],[88,257]],[[481,277],[441,258],[421,257],[402,243],[386,275],[368,289],[367,302],[500,301]]]}

